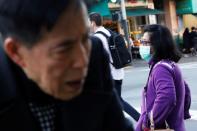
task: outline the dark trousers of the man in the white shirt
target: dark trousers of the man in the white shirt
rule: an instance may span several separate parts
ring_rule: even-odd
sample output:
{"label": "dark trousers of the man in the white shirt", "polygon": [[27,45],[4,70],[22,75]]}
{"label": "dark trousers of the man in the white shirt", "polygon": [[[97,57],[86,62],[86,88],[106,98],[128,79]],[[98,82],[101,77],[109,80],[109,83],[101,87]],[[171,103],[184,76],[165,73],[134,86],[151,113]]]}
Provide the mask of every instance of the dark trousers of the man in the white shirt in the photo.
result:
{"label": "dark trousers of the man in the white shirt", "polygon": [[129,103],[123,100],[121,97],[122,80],[114,80],[114,86],[118,96],[120,97],[124,111],[127,114],[129,114],[134,120],[138,121],[140,117],[140,113],[135,108],[133,108]]}

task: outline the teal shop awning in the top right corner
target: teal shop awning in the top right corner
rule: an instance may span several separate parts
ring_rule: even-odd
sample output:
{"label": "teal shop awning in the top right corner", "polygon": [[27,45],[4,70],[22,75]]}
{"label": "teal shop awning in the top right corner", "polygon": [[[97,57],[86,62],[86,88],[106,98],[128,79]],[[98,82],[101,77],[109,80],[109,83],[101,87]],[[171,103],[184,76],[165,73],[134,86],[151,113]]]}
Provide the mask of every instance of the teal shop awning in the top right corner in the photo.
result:
{"label": "teal shop awning in the top right corner", "polygon": [[196,0],[176,0],[177,14],[192,14],[197,13]]}

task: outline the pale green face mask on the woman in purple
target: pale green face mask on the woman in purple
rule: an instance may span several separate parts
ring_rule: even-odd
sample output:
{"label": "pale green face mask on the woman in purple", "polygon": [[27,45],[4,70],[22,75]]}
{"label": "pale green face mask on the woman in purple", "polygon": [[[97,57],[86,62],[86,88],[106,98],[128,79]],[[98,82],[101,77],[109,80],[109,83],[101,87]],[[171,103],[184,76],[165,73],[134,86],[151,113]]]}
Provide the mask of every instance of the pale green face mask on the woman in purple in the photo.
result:
{"label": "pale green face mask on the woman in purple", "polygon": [[144,59],[145,61],[148,62],[151,59],[150,46],[141,45],[139,52],[140,52],[141,58]]}

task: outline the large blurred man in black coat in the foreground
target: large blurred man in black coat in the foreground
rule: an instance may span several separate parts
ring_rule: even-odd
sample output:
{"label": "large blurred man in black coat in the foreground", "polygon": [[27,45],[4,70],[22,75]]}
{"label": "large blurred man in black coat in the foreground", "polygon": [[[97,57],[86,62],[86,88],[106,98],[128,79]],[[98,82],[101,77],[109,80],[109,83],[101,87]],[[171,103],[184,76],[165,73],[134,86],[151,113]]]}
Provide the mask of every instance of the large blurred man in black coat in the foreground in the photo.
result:
{"label": "large blurred man in black coat in the foreground", "polygon": [[0,0],[0,32],[0,131],[133,130],[82,0]]}

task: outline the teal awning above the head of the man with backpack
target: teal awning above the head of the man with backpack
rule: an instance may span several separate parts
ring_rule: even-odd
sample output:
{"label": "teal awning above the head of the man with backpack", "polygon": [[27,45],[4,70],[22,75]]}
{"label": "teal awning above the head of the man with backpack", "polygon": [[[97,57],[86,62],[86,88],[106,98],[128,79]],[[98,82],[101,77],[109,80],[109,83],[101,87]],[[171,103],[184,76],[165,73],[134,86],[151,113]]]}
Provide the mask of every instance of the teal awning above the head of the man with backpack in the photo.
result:
{"label": "teal awning above the head of the man with backpack", "polygon": [[89,9],[88,12],[97,12],[100,13],[101,16],[103,17],[110,17],[111,16],[111,12],[108,8],[108,2],[107,1],[103,1],[103,2],[98,2],[97,4],[92,5]]}

